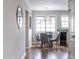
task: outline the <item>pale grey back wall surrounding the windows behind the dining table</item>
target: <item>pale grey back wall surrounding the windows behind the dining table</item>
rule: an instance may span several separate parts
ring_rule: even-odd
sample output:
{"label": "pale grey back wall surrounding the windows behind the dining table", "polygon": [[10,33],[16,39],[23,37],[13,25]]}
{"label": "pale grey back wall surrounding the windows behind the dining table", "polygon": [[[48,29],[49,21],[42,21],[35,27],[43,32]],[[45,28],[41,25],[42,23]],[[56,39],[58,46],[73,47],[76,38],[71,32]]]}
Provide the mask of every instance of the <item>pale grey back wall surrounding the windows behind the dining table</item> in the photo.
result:
{"label": "pale grey back wall surrounding the windows behind the dining table", "polygon": [[69,14],[67,10],[62,11],[32,11],[32,42],[36,42],[35,39],[35,16],[57,16],[57,29],[61,29],[61,15]]}

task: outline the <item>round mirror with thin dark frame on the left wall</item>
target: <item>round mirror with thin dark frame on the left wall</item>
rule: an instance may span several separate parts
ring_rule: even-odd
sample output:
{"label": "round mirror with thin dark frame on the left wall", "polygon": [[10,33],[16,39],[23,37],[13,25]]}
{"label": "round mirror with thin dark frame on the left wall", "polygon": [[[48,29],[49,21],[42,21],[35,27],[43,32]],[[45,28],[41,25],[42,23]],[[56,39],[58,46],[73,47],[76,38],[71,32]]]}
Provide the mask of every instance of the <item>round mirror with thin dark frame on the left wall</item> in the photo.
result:
{"label": "round mirror with thin dark frame on the left wall", "polygon": [[18,28],[21,29],[22,24],[23,24],[23,11],[22,11],[22,8],[20,6],[17,7],[16,20],[17,20]]}

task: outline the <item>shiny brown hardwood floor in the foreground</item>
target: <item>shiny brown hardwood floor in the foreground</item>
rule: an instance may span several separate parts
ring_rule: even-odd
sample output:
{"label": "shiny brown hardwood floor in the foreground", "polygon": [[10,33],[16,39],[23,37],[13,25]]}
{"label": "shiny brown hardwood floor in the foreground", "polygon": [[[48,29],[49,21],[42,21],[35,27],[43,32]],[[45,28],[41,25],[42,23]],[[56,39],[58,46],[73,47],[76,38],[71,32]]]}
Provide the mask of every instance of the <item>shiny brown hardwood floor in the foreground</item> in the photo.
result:
{"label": "shiny brown hardwood floor in the foreground", "polygon": [[69,59],[69,52],[66,47],[62,48],[32,48],[26,50],[24,59]]}

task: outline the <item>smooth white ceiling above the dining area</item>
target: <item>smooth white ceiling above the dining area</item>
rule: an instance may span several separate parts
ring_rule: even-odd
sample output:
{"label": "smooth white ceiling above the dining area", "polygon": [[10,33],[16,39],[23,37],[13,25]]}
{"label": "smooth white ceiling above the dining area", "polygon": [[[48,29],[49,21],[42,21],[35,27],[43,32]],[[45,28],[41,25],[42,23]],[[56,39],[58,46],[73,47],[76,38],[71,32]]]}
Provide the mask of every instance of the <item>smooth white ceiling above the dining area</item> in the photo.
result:
{"label": "smooth white ceiling above the dining area", "polygon": [[32,10],[68,10],[68,0],[26,0]]}

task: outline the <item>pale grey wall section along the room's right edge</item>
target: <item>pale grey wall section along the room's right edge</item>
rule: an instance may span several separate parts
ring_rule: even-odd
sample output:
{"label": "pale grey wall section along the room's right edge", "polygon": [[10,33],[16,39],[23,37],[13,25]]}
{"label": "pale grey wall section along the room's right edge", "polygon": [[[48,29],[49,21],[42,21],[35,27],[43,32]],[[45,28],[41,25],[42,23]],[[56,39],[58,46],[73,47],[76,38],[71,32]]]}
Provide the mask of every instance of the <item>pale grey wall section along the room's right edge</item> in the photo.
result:
{"label": "pale grey wall section along the room's right edge", "polygon": [[[74,58],[75,57],[75,38],[72,37],[75,35],[75,0],[70,0],[69,1],[69,9],[70,9],[70,37],[69,37],[69,50],[71,53],[71,56]],[[73,32],[71,31],[71,23],[73,19]]]}

